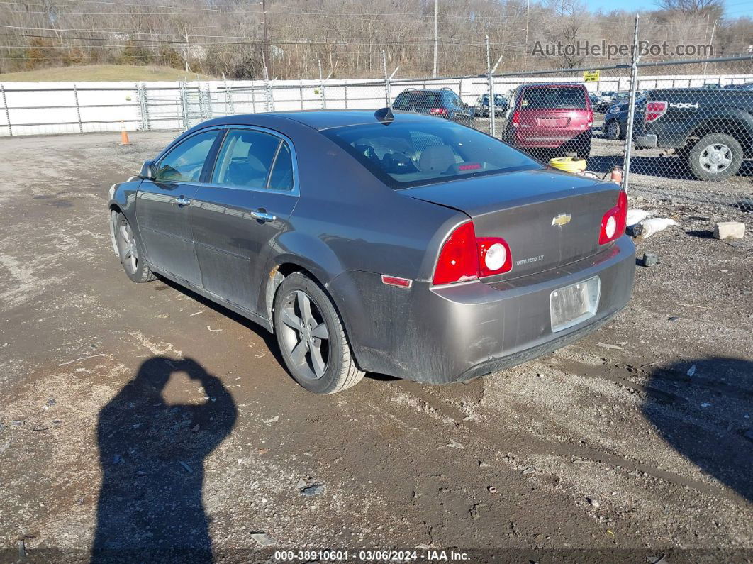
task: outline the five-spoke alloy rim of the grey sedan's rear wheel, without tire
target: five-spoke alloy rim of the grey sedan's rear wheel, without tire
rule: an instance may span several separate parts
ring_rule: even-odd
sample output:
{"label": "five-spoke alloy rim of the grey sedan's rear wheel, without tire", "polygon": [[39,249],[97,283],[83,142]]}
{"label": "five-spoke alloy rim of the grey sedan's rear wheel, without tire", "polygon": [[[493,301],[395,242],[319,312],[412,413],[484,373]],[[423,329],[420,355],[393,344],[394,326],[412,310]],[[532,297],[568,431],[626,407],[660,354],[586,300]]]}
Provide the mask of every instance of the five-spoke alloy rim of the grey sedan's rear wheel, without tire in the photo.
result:
{"label": "five-spoke alloy rim of the grey sedan's rear wheel, without tire", "polygon": [[322,312],[305,291],[288,294],[280,315],[282,349],[301,377],[319,380],[329,361],[329,329]]}

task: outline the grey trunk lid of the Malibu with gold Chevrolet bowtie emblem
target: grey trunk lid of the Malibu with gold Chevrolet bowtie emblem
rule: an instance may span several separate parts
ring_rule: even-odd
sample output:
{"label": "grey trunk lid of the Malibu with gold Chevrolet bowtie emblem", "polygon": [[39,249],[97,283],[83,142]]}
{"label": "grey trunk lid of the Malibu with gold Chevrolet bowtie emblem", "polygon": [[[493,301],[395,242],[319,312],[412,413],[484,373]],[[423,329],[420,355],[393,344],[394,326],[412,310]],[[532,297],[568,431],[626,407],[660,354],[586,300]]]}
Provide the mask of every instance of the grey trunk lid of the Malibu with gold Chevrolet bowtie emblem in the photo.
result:
{"label": "grey trunk lid of the Malibu with gold Chevrolet bowtie emblem", "polygon": [[497,282],[542,272],[599,252],[605,212],[617,205],[616,184],[552,169],[509,172],[409,188],[401,194],[457,209],[477,237],[502,237],[513,268]]}

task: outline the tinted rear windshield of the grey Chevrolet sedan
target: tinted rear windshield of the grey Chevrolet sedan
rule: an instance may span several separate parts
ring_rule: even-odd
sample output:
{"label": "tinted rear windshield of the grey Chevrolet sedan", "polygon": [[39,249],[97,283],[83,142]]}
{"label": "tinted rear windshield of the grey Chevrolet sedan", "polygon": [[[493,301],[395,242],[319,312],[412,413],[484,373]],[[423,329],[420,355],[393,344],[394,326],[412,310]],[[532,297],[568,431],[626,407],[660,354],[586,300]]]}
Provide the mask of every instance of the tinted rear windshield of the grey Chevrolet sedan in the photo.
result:
{"label": "tinted rear windshield of the grey Chevrolet sedan", "polygon": [[393,189],[541,168],[498,139],[439,117],[337,127],[322,133]]}

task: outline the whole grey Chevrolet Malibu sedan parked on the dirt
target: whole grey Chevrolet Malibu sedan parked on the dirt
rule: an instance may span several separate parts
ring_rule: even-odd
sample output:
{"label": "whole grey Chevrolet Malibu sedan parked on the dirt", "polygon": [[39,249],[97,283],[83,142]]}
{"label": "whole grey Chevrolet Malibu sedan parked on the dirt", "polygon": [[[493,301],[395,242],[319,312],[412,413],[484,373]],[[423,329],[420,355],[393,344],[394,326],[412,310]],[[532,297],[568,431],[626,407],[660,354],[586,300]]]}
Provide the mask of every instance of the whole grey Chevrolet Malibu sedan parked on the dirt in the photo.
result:
{"label": "whole grey Chevrolet Malibu sedan parked on the dirt", "polygon": [[633,288],[626,208],[615,184],[388,108],[209,120],[109,201],[131,280],[273,331],[319,394],[470,380],[595,331]]}

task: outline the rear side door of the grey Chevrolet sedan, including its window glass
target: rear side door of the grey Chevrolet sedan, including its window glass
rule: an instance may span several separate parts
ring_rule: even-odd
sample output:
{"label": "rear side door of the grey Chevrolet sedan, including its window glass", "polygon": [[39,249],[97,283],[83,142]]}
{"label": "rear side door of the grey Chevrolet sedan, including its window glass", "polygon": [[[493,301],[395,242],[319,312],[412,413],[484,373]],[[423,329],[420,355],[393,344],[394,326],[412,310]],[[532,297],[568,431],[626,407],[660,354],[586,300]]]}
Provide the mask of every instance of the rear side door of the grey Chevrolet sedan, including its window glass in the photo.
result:
{"label": "rear side door of the grey Chevrolet sedan, including its window glass", "polygon": [[265,259],[288,228],[298,200],[290,139],[256,127],[230,128],[209,183],[191,205],[191,226],[203,287],[258,312]]}

